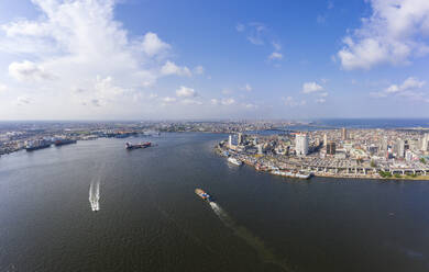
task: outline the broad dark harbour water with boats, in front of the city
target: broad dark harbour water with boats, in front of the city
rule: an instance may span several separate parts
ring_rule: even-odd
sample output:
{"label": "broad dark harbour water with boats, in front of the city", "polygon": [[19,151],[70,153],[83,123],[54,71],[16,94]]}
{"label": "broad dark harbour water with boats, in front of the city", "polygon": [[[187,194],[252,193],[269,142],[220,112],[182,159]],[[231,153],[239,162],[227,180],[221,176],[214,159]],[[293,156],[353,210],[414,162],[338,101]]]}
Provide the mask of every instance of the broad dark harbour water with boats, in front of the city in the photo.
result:
{"label": "broad dark harbour water with boats, in front of the city", "polygon": [[429,270],[428,182],[287,180],[228,165],[222,138],[1,157],[0,271]]}

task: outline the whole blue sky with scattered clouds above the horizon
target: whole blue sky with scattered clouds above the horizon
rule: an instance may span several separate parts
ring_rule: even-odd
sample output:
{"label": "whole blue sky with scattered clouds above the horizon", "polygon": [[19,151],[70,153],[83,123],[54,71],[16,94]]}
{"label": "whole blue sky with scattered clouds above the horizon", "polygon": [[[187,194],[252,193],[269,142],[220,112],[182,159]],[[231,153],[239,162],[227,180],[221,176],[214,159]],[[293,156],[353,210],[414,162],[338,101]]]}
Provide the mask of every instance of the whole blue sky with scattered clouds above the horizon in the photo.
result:
{"label": "whole blue sky with scattered clouds above the horizon", "polygon": [[428,0],[1,0],[0,120],[429,117]]}

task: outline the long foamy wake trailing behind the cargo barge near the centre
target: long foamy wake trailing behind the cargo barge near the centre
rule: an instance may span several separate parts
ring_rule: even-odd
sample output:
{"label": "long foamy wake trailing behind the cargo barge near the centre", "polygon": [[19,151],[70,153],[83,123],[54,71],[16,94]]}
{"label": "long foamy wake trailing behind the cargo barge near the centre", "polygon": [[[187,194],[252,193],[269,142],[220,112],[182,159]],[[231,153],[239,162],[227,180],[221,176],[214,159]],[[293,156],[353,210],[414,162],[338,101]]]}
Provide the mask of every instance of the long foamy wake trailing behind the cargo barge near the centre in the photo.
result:
{"label": "long foamy wake trailing behind the cargo barge near the centre", "polygon": [[261,260],[282,268],[283,271],[294,271],[286,261],[277,259],[274,253],[264,245],[261,238],[254,236],[249,229],[239,226],[234,219],[216,202],[210,202],[210,206],[219,219],[230,228],[234,235],[243,239],[260,256]]}

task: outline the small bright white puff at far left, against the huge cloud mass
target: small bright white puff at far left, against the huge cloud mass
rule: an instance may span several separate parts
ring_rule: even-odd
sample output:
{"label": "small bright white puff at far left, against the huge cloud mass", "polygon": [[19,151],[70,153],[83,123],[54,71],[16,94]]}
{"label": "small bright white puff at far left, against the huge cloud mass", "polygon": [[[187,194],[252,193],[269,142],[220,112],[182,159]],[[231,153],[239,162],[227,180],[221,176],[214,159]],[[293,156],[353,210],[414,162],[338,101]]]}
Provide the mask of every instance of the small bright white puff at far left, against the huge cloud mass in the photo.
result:
{"label": "small bright white puff at far left, against the huge cloud mass", "polygon": [[16,80],[46,80],[54,79],[54,76],[32,61],[12,63],[9,65],[9,75]]}

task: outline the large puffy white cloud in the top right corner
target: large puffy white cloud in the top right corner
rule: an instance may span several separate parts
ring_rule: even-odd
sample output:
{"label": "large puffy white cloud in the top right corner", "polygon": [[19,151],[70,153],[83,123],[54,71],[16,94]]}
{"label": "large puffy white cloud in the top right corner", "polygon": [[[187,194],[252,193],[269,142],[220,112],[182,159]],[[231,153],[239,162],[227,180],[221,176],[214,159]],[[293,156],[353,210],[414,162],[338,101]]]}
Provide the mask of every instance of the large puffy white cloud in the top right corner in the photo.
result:
{"label": "large puffy white cloud in the top right corner", "polygon": [[373,13],[343,38],[338,52],[344,69],[407,64],[429,53],[429,1],[371,0]]}

